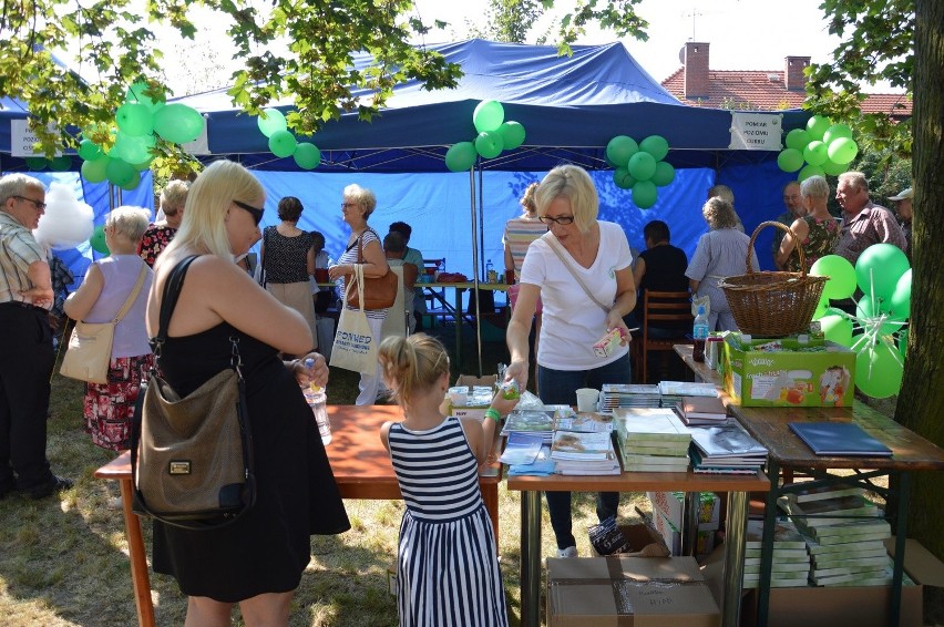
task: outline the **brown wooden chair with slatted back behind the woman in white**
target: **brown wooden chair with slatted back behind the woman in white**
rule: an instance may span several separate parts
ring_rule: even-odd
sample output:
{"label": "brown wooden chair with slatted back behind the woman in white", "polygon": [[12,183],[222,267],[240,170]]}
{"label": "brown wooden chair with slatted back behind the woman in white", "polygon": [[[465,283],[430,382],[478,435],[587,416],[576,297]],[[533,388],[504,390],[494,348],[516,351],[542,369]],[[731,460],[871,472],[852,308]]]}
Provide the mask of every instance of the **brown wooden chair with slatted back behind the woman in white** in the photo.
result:
{"label": "brown wooden chair with slatted back behind the woman in white", "polygon": [[[649,382],[649,352],[671,352],[673,346],[692,343],[687,333],[691,332],[695,317],[691,315],[691,294],[689,291],[650,291],[643,294],[642,333],[633,341],[636,356],[636,372],[643,373],[642,383]],[[678,336],[670,338],[649,337],[649,326],[678,326]]]}

